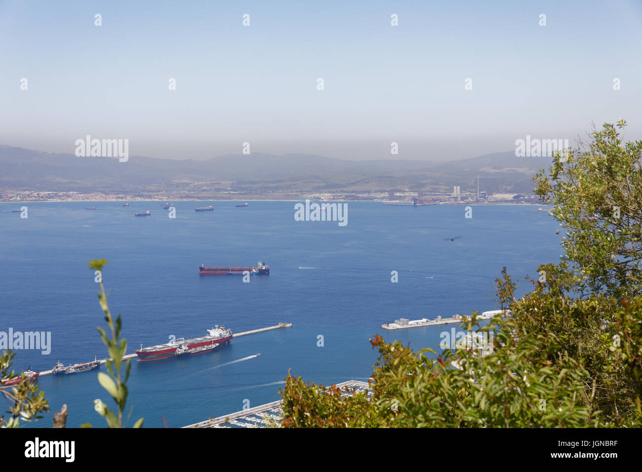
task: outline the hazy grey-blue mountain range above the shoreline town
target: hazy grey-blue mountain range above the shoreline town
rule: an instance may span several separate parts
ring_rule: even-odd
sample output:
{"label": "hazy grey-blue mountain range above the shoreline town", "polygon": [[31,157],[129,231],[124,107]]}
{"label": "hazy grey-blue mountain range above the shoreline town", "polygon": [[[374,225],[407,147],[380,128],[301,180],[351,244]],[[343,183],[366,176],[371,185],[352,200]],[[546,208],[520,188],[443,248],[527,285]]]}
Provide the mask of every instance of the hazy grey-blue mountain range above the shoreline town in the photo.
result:
{"label": "hazy grey-blue mountain range above the shoreline town", "polygon": [[531,192],[531,178],[550,157],[501,152],[461,161],[345,161],[306,154],[229,154],[205,161],[131,156],[76,157],[0,146],[0,188],[17,190],[125,192],[135,189],[338,191],[476,188]]}

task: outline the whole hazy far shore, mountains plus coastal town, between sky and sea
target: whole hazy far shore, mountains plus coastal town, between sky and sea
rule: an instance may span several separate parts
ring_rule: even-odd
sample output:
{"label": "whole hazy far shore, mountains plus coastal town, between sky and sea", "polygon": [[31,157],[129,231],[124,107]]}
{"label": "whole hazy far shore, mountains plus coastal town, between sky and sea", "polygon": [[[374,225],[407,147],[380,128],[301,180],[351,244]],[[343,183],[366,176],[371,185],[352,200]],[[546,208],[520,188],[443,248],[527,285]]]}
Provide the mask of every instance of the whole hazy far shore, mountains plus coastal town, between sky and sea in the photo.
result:
{"label": "whole hazy far shore, mountains plus coastal town, between sky and sea", "polygon": [[374,200],[386,204],[534,203],[551,157],[501,152],[449,162],[347,161],[306,154],[204,161],[78,157],[0,145],[0,202]]}

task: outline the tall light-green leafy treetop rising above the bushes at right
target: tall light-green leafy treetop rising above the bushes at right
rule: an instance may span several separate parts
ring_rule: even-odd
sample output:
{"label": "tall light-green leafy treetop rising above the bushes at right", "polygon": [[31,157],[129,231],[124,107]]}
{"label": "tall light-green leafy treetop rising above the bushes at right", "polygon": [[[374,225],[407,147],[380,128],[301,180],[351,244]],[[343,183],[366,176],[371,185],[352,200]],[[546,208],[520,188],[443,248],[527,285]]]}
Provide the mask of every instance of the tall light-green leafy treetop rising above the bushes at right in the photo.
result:
{"label": "tall light-green leafy treetop rising above the bushes at right", "polygon": [[535,176],[535,193],[566,229],[563,259],[576,265],[579,288],[620,300],[642,286],[642,141],[623,142],[626,125],[605,123]]}

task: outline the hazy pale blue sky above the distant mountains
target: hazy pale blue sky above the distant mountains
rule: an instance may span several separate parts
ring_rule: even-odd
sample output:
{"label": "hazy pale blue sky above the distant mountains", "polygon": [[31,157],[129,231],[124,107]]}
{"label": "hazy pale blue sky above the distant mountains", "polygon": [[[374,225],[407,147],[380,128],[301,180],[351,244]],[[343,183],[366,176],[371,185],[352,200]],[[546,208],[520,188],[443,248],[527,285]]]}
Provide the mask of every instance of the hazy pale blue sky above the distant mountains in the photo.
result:
{"label": "hazy pale blue sky above the distant mountains", "polygon": [[0,144],[447,160],[620,117],[639,139],[641,59],[639,0],[0,0]]}

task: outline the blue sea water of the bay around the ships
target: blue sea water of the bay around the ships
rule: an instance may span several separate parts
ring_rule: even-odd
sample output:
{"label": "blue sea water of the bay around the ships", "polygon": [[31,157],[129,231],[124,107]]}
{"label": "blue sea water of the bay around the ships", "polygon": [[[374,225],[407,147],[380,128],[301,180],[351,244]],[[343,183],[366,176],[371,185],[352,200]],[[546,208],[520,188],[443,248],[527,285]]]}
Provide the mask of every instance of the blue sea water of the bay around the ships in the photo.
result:
{"label": "blue sea water of the bay around the ships", "polygon": [[[388,331],[381,324],[494,310],[502,267],[522,278],[518,292],[525,293],[523,277],[537,278],[537,266],[562,252],[559,226],[532,205],[472,205],[467,219],[462,205],[347,202],[348,224],[340,227],[295,221],[294,202],[175,203],[175,219],[160,202],[91,202],[93,211],[83,202],[30,203],[26,219],[11,213],[17,204],[0,204],[0,331],[51,332],[50,354],[14,351],[16,371],[107,357],[96,330],[107,324],[92,259],[108,260],[103,283],[112,314],[122,315],[128,353],[171,336],[206,335],[214,324],[233,332],[293,324],[236,338],[214,353],[132,362],[128,425],[144,417],[144,426],[162,427],[164,415],[179,427],[278,399],[289,370],[324,385],[365,381],[377,359],[369,343],[376,333],[438,349],[443,326]],[[214,211],[194,211],[204,205]],[[134,217],[146,210],[152,215]],[[270,275],[250,283],[198,275],[200,264],[254,267],[259,259]],[[39,383],[51,412],[33,426],[51,426],[64,403],[67,426],[105,426],[94,399],[112,409],[114,402],[96,371]]]}

